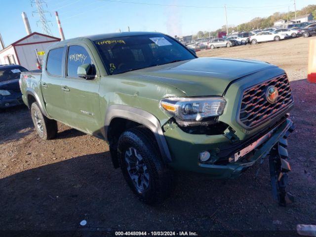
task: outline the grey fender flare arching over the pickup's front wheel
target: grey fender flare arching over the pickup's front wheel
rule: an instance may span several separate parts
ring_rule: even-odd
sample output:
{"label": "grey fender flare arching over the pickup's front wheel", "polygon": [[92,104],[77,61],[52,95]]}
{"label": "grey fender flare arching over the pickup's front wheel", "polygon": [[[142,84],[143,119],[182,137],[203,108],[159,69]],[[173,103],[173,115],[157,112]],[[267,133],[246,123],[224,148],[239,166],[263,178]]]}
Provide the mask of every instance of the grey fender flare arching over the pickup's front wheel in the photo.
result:
{"label": "grey fender flare arching over the pickup's front wheel", "polygon": [[163,161],[167,163],[172,161],[160,122],[154,115],[147,111],[126,105],[109,106],[104,122],[104,137],[106,140],[108,140],[108,128],[113,118],[129,119],[148,127],[155,135]]}

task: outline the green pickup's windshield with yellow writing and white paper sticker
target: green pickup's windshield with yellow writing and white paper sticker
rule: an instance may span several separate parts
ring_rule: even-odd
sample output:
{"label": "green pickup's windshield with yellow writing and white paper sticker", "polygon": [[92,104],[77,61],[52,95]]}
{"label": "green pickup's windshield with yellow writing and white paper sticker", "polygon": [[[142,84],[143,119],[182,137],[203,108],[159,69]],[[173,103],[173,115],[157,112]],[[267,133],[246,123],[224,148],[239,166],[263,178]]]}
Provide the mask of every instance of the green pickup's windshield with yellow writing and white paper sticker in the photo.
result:
{"label": "green pickup's windshield with yellow writing and white paper sticker", "polygon": [[95,40],[110,75],[194,59],[177,41],[165,35],[141,35]]}

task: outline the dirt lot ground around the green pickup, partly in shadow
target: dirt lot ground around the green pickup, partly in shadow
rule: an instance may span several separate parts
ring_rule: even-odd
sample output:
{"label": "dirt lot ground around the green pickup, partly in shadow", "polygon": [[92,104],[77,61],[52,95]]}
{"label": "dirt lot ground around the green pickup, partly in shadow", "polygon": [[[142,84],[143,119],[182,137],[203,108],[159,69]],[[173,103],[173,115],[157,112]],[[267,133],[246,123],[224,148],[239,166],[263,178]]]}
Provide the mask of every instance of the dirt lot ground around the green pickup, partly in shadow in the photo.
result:
{"label": "dirt lot ground around the green pickup, partly in shadow", "polygon": [[[306,81],[308,40],[206,50],[199,56],[271,62],[291,80],[297,128],[289,138],[288,190],[296,202],[279,207],[272,199],[268,163],[236,180],[210,180],[179,173],[172,196],[148,206],[128,189],[111,164],[104,141],[58,124],[58,137],[42,141],[26,107],[0,114],[0,236],[114,236],[113,231],[178,230],[204,235],[295,236],[296,224],[316,224],[316,84]],[[81,220],[87,220],[80,227]],[[21,232],[20,232],[21,231]],[[61,232],[63,231],[63,232]],[[65,232],[67,231],[67,232]],[[99,231],[99,232],[97,232]],[[245,232],[246,231],[246,232]]]}

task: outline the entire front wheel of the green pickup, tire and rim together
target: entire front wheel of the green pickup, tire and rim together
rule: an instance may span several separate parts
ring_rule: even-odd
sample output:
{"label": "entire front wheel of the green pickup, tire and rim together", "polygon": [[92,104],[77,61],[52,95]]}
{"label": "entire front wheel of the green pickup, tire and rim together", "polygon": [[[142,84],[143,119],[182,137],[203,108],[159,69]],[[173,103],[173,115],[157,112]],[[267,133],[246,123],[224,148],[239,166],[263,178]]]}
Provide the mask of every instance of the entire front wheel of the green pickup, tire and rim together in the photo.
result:
{"label": "entire front wheel of the green pickup, tire and rim together", "polygon": [[138,126],[121,134],[118,140],[118,160],[123,176],[142,201],[162,202],[172,188],[172,170],[162,161],[153,133]]}

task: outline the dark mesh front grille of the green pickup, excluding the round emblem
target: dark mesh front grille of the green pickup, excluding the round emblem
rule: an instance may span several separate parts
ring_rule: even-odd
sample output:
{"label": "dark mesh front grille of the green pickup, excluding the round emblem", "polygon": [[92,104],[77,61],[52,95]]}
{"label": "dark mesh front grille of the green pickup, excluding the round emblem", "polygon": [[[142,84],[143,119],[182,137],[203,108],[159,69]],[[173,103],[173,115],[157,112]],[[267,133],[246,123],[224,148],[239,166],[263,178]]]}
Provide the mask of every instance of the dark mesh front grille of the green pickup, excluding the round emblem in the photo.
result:
{"label": "dark mesh front grille of the green pickup, excluding the round emblem", "polygon": [[[266,90],[271,85],[278,90],[275,104],[269,103],[266,99]],[[253,128],[269,118],[275,117],[292,104],[293,96],[290,84],[284,74],[243,92],[238,122],[248,129]]]}

